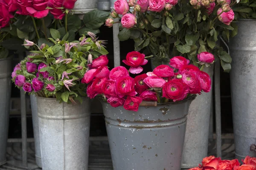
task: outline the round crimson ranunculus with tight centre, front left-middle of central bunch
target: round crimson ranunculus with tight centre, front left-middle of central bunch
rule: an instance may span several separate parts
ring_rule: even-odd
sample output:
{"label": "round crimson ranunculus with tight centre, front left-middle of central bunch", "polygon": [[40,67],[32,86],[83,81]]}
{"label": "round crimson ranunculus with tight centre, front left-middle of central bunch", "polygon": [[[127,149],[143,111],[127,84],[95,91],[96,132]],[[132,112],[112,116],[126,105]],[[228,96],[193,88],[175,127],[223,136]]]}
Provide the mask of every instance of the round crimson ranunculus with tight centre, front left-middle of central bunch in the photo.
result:
{"label": "round crimson ranunculus with tight centre, front left-middle of central bunch", "polygon": [[134,90],[135,82],[131,77],[119,77],[116,80],[116,94],[119,97],[135,96],[137,92]]}

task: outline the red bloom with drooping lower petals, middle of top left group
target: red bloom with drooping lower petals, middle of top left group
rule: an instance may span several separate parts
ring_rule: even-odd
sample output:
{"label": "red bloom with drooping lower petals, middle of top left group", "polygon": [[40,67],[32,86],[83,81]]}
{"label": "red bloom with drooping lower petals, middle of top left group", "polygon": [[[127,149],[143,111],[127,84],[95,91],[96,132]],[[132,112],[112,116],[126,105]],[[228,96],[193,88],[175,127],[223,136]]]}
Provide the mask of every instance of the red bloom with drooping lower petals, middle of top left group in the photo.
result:
{"label": "red bloom with drooping lower petals, middle of top left group", "polygon": [[47,8],[48,0],[32,0],[32,6],[27,6],[26,10],[32,17],[43,18],[46,17],[49,13]]}

